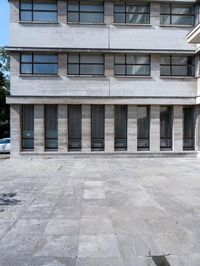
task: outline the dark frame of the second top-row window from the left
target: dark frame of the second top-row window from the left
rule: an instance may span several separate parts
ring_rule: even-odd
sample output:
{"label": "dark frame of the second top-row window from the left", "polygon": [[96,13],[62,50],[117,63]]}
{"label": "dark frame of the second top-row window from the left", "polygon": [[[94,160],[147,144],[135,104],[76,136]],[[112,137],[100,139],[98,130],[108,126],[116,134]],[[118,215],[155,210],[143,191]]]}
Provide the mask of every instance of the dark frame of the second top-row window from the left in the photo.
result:
{"label": "dark frame of the second top-row window from the left", "polygon": [[[78,11],[69,11],[69,8],[68,8],[68,5],[69,5],[69,2],[76,2],[78,3]],[[103,6],[103,11],[102,12],[99,12],[99,11],[81,11],[80,10],[80,4],[81,3],[88,3],[88,4],[93,4],[93,3],[102,3],[102,6]],[[78,13],[78,21],[69,21],[68,20],[68,13]],[[93,14],[102,14],[103,15],[103,21],[102,22],[82,22],[80,20],[80,17],[81,17],[81,14],[84,14],[84,13],[93,13]],[[81,2],[81,1],[68,1],[67,2],[67,22],[68,23],[84,23],[84,24],[104,24],[104,21],[105,21],[105,3],[104,1],[98,1],[98,2],[89,2],[89,1],[84,1],[84,2]]]}

